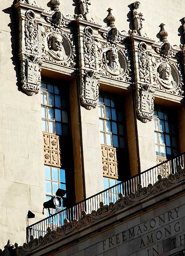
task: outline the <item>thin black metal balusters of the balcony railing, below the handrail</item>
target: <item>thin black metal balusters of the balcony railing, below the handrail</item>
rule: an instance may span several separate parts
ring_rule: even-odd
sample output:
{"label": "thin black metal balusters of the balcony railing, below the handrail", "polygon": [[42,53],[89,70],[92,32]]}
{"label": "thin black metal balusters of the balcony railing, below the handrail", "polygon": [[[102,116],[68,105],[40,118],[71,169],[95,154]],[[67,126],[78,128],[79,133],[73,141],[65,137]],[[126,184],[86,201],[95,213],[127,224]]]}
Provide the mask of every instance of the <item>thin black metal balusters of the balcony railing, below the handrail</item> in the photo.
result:
{"label": "thin black metal balusters of the balcony railing, below the handrail", "polygon": [[119,199],[119,194],[122,193],[124,196],[128,196],[131,192],[135,193],[138,188],[138,184],[143,187],[148,186],[150,183],[153,185],[158,181],[158,175],[162,177],[168,177],[169,174],[174,174],[177,172],[177,166],[181,165],[185,167],[185,153],[161,164],[158,164],[142,173],[139,173],[126,181],[107,188],[98,194],[90,196],[85,200],[77,203],[76,205],[63,209],[49,217],[40,220],[26,228],[27,242],[30,240],[30,236],[38,238],[44,236],[47,233],[47,228],[50,227],[51,230],[56,230],[58,226],[64,224],[64,220],[67,219],[72,221],[74,219],[79,220],[82,217],[82,212],[91,213],[92,210],[97,210],[99,208],[99,203],[103,202],[105,205],[109,203],[115,203]]}

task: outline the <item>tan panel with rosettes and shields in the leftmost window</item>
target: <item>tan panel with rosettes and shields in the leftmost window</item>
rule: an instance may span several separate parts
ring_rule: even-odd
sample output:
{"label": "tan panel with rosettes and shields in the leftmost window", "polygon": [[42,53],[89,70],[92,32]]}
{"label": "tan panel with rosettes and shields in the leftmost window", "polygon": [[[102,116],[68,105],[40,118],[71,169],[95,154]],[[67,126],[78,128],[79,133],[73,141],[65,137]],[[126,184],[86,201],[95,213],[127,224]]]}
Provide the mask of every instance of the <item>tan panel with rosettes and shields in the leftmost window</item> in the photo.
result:
{"label": "tan panel with rosettes and shields in the leftmost window", "polygon": [[44,164],[61,167],[59,136],[43,132]]}

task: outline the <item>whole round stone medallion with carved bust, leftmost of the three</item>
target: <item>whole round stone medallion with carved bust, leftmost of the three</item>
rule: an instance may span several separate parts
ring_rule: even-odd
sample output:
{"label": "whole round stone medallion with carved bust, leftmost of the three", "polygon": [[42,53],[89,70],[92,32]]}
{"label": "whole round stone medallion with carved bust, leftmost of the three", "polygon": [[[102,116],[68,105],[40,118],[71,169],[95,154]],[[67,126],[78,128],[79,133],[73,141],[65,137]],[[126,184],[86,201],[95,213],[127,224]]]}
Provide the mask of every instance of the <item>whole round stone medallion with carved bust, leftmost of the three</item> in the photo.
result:
{"label": "whole round stone medallion with carved bust, leftmost of the three", "polygon": [[51,32],[47,36],[46,49],[55,60],[65,62],[69,58],[70,51],[64,36],[57,32]]}

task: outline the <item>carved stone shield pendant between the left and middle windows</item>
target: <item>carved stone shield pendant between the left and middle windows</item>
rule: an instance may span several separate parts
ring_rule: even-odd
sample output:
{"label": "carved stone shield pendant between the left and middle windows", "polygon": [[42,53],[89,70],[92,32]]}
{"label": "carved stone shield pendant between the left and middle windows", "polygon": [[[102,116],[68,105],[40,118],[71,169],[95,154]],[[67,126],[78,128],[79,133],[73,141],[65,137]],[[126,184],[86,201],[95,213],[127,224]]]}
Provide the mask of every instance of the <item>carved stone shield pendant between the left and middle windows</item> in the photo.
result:
{"label": "carved stone shield pendant between the left and middle windows", "polygon": [[99,98],[99,81],[97,73],[93,70],[86,71],[85,75],[80,77],[80,98],[81,104],[88,110],[97,107]]}

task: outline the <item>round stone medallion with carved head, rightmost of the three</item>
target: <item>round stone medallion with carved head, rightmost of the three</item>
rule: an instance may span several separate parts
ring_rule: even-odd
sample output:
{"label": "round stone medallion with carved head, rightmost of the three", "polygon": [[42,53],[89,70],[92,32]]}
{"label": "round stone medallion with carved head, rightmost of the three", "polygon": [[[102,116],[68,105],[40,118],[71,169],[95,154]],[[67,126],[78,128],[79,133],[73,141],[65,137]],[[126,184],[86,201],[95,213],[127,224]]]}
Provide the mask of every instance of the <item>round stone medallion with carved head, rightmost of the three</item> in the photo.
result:
{"label": "round stone medallion with carved head, rightmost of the three", "polygon": [[179,77],[175,68],[168,62],[162,62],[157,69],[160,85],[168,90],[175,90],[179,85]]}

